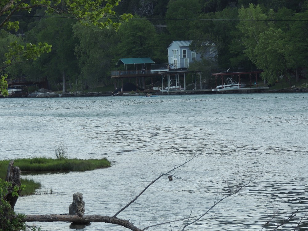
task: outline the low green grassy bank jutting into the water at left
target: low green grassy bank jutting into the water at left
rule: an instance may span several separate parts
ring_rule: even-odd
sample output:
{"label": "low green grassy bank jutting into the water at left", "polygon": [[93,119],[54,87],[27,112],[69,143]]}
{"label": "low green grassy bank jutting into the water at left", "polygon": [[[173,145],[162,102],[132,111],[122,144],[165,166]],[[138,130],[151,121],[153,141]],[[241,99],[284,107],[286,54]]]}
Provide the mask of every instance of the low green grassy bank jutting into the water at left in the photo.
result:
{"label": "low green grassy bank jutting into the water at left", "polygon": [[[0,178],[2,180],[6,177],[7,167],[10,160],[3,160],[0,165]],[[23,178],[22,172],[78,172],[89,171],[97,168],[107,168],[111,163],[106,159],[52,159],[46,157],[22,158],[15,159],[14,166],[18,166],[21,170],[21,182],[26,185],[21,195],[33,195],[35,190],[42,187],[41,182],[29,178]]]}

